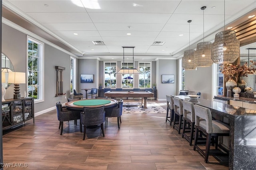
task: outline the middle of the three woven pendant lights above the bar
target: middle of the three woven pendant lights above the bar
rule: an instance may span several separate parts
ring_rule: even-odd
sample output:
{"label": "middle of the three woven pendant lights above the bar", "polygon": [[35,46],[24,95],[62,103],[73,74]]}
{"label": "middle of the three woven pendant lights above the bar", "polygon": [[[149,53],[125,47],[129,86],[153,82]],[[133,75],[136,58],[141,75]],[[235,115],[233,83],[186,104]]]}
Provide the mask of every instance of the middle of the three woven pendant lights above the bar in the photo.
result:
{"label": "middle of the three woven pendant lights above the bar", "polygon": [[204,42],[204,10],[206,6],[201,7],[203,10],[203,42],[198,43],[195,51],[195,64],[198,67],[209,67],[212,66],[213,61],[211,59],[212,55],[212,43]]}

